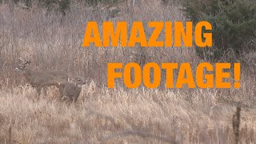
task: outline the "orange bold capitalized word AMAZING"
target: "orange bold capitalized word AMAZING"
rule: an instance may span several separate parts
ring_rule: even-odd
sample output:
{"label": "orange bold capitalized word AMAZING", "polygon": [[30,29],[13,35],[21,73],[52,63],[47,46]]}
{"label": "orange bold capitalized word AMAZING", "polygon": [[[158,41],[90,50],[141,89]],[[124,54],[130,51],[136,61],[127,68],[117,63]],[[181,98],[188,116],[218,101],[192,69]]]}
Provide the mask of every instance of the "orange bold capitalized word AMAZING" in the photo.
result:
{"label": "orange bold capitalized word AMAZING", "polygon": [[[88,22],[82,46],[90,46],[90,43],[94,43],[94,46],[110,46],[111,39],[112,46],[118,46],[118,43],[120,46],[135,46],[136,43],[139,43],[141,46],[178,47],[183,44],[183,46],[190,47],[193,44],[193,38],[196,46],[212,46],[212,34],[204,32],[212,30],[210,22],[198,22],[194,26],[194,36],[193,22],[186,22],[185,26],[182,22],[148,22],[148,26],[154,30],[147,40],[142,22],[133,22],[129,33],[127,22],[117,22],[115,30],[113,22],[103,22],[101,38],[97,22]],[[162,30],[164,30],[165,39],[159,41],[158,37]],[[129,39],[128,34],[130,34]]]}

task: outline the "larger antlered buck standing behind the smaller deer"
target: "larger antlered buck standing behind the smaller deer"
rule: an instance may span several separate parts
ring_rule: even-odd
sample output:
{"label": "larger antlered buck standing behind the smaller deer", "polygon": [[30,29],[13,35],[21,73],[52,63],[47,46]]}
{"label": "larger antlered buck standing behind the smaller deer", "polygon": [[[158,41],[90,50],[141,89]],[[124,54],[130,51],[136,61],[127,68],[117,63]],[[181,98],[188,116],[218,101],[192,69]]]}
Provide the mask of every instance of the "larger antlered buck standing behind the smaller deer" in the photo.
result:
{"label": "larger antlered buck standing behind the smaller deer", "polygon": [[31,70],[28,67],[30,61],[23,60],[22,58],[18,59],[22,61],[22,64],[18,65],[15,70],[21,71],[26,80],[30,82],[30,85],[37,89],[37,98],[41,94],[42,88],[48,86],[57,86],[59,88],[60,96],[63,96],[62,87],[60,87],[55,80],[58,80],[59,82],[68,82],[68,75],[66,73],[54,70]]}

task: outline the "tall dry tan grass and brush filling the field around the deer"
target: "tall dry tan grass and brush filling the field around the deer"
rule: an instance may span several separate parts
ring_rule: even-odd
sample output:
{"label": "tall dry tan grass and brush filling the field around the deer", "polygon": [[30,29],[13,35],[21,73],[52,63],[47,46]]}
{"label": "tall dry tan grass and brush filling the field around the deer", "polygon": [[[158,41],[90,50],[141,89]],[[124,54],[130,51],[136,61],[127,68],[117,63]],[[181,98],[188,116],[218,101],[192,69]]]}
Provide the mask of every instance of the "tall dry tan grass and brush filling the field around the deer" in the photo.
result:
{"label": "tall dry tan grass and brush filling the field around the deer", "polygon": [[[179,6],[147,1],[120,6],[121,15],[111,21],[186,20]],[[0,6],[0,143],[233,143],[238,101],[243,102],[240,141],[256,142],[255,78],[246,67],[238,90],[128,90],[122,81],[107,89],[108,62],[202,62],[194,48],[81,47],[86,22],[100,25],[107,18],[104,10],[78,3],[66,17],[36,5],[14,7],[14,14],[6,4]],[[34,102],[35,90],[14,72],[18,57],[30,59],[35,70],[62,70],[90,82],[77,103],[62,102],[54,88]]]}

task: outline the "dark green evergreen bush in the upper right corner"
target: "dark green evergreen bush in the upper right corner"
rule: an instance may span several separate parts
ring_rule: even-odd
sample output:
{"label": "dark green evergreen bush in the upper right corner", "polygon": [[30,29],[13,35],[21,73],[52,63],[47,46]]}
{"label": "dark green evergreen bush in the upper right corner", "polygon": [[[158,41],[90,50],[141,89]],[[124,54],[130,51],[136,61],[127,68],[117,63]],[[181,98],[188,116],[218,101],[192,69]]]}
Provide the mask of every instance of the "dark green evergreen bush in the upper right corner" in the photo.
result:
{"label": "dark green evergreen bush in the upper right corner", "polygon": [[186,17],[193,22],[207,21],[213,26],[214,47],[197,49],[201,58],[240,60],[242,54],[256,50],[256,2],[254,0],[184,1]]}

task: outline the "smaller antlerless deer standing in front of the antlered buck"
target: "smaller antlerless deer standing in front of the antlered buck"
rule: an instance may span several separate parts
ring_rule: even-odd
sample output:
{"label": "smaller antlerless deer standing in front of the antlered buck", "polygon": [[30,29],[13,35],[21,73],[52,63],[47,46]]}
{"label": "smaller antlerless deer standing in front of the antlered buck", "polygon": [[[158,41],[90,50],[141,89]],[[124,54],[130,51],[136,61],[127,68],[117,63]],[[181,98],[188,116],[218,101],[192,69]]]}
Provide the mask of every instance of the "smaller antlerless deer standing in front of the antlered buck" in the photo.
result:
{"label": "smaller antlerless deer standing in front of the antlered buck", "polygon": [[[58,82],[55,80],[55,82]],[[82,85],[86,84],[81,78],[75,78],[74,82],[58,82],[58,85],[62,87],[62,100],[69,98],[73,102],[78,100],[78,97],[82,90]]]}

